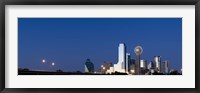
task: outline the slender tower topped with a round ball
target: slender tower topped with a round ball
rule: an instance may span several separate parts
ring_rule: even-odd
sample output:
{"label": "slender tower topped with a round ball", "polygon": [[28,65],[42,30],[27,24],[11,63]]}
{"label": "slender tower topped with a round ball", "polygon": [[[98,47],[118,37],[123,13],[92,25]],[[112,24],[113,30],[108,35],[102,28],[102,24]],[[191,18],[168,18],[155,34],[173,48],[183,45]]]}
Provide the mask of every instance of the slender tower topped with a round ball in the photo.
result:
{"label": "slender tower topped with a round ball", "polygon": [[141,46],[136,46],[134,49],[134,52],[136,54],[136,75],[140,75],[140,55],[142,54],[142,47]]}

